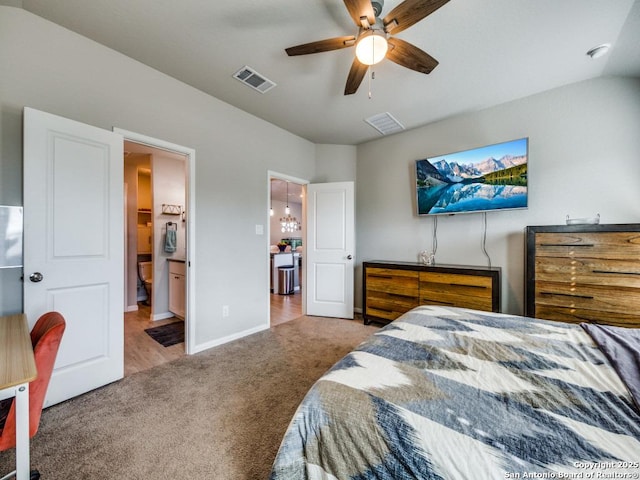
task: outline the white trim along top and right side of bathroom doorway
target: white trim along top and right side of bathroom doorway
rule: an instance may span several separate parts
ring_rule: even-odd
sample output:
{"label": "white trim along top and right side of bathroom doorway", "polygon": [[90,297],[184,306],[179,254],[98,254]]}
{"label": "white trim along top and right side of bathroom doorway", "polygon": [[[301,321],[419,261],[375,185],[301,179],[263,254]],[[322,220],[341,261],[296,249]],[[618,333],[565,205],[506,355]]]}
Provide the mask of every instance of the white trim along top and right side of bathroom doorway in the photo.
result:
{"label": "white trim along top and right side of bathroom doorway", "polygon": [[171,153],[177,153],[187,157],[186,159],[186,185],[185,185],[185,221],[186,221],[186,304],[184,315],[184,327],[185,327],[185,353],[191,355],[196,352],[195,350],[195,205],[196,205],[196,182],[195,182],[195,162],[196,151],[193,148],[184,147],[175,143],[166,142],[158,138],[149,137],[136,132],[130,132],[121,128],[113,128],[115,133],[119,133],[123,136],[124,141],[130,141],[138,143],[151,148],[157,148],[159,150],[165,150]]}

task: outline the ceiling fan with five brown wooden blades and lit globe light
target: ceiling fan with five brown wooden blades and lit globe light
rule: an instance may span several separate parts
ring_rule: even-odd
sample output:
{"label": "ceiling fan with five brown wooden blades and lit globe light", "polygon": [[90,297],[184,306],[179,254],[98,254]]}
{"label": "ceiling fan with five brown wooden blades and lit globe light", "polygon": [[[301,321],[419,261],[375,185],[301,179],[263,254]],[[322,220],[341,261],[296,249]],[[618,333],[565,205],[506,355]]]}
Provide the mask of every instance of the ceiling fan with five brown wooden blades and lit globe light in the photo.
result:
{"label": "ceiling fan with five brown wooden blades and lit globe light", "polygon": [[358,27],[357,35],[329,38],[286,48],[287,55],[307,55],[356,46],[345,95],[358,90],[370,65],[383,58],[420,73],[431,73],[438,61],[415,45],[391,35],[409,28],[435,12],[449,0],[404,0],[380,19],[384,0],[344,0],[349,15]]}

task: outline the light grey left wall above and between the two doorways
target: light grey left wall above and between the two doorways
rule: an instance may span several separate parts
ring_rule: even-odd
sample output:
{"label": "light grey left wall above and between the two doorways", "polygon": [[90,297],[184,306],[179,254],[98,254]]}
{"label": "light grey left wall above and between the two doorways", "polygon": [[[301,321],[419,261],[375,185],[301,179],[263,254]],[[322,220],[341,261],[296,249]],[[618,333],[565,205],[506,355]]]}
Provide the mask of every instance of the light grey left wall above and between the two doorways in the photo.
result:
{"label": "light grey left wall above and between the two doorways", "polygon": [[[267,326],[267,172],[313,179],[312,143],[22,9],[0,7],[0,65],[0,204],[22,204],[25,106],[193,148],[195,348]],[[19,276],[0,282],[21,311]]]}

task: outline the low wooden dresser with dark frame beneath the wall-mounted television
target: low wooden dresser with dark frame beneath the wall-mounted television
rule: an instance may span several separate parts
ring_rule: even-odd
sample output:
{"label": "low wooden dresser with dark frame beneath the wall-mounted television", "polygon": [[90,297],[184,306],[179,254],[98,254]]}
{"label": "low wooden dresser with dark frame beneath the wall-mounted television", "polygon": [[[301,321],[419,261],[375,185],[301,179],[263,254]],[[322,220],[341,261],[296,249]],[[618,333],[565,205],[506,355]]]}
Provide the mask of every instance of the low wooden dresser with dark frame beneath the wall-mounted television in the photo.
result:
{"label": "low wooden dresser with dark frame beneath the wall-mounted television", "polygon": [[418,305],[498,312],[500,273],[500,267],[363,262],[364,323],[388,323]]}

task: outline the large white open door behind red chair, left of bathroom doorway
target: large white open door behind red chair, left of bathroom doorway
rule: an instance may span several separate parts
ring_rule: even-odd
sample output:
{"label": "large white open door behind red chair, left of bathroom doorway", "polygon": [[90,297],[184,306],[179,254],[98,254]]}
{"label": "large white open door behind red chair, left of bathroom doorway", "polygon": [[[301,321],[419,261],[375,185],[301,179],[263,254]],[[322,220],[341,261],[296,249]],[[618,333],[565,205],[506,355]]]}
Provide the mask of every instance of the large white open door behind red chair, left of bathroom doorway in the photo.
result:
{"label": "large white open door behind red chair, left of bathroom doorway", "polygon": [[122,135],[24,110],[24,311],[67,321],[45,406],[122,378]]}

